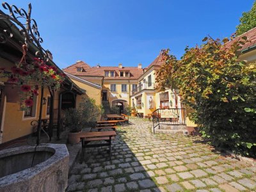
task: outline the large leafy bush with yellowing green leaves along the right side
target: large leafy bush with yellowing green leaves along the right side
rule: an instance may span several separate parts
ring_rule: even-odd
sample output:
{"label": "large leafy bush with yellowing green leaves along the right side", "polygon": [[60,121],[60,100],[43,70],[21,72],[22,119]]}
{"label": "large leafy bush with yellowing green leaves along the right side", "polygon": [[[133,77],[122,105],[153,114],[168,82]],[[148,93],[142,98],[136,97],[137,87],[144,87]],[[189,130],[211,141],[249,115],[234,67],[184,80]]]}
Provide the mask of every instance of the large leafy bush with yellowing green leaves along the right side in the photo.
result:
{"label": "large leafy bush with yellowing green leaves along the right side", "polygon": [[180,61],[163,51],[158,89],[179,90],[182,102],[193,109],[190,118],[213,145],[255,157],[256,64],[238,60],[235,53],[243,42],[230,49],[222,42],[204,38],[200,47],[187,47]]}

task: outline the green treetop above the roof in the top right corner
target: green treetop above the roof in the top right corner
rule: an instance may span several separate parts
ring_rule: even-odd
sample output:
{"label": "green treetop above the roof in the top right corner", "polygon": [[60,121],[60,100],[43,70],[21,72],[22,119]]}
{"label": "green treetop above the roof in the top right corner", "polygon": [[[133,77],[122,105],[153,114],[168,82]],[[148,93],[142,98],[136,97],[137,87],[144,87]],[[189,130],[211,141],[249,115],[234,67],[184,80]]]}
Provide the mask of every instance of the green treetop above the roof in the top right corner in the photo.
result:
{"label": "green treetop above the roof in the top right corner", "polygon": [[253,3],[252,10],[244,12],[240,18],[240,24],[236,27],[237,35],[242,35],[246,31],[256,27],[256,1]]}

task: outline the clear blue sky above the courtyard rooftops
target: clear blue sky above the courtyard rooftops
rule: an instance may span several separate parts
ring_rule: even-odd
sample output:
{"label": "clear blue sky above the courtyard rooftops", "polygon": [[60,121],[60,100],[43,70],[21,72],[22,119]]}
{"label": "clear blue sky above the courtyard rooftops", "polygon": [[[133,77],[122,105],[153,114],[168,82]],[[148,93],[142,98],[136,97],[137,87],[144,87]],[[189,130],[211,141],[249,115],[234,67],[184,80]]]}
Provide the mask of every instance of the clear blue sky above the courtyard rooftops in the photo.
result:
{"label": "clear blue sky above the courtyard rooftops", "polygon": [[[28,10],[42,46],[60,68],[83,60],[91,66],[147,67],[161,49],[180,58],[186,45],[206,35],[224,38],[254,0],[80,0],[7,1]],[[1,7],[1,10],[3,8]]]}

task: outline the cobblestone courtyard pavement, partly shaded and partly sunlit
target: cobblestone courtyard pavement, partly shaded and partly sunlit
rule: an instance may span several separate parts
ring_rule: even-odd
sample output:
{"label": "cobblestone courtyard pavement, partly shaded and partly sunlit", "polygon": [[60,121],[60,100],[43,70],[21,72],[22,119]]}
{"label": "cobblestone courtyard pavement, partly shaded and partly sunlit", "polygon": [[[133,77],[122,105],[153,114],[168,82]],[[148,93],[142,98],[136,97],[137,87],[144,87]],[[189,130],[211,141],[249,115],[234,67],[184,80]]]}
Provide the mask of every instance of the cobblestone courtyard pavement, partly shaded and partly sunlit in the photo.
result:
{"label": "cobblestone courtyard pavement, partly shaded and partly sunlit", "polygon": [[86,150],[67,191],[256,191],[256,167],[212,152],[198,137],[152,134],[132,118],[106,147]]}

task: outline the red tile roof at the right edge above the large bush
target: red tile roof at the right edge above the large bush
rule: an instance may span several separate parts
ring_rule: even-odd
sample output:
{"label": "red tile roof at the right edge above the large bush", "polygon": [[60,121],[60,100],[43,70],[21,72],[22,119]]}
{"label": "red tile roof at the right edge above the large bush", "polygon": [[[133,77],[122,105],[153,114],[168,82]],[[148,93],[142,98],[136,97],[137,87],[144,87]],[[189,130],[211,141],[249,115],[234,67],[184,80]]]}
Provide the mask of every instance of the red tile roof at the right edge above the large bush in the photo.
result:
{"label": "red tile roof at the right edge above the large bush", "polygon": [[247,31],[246,33],[244,33],[242,35],[239,35],[236,38],[234,38],[233,40],[227,42],[225,44],[225,47],[230,48],[231,45],[234,44],[234,42],[237,42],[237,41],[241,40],[241,38],[243,36],[247,37],[247,42],[244,45],[241,45],[240,50],[244,50],[244,49],[252,47],[253,45],[256,45],[256,28],[253,28],[250,31]]}

